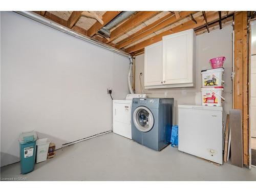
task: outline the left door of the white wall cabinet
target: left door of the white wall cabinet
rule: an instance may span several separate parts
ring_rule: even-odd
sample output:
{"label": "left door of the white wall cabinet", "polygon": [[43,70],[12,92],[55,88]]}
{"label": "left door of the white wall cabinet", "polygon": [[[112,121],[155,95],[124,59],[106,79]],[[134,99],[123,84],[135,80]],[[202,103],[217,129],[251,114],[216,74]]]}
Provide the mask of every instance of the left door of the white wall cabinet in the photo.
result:
{"label": "left door of the white wall cabinet", "polygon": [[145,47],[144,86],[158,86],[162,78],[162,41]]}

